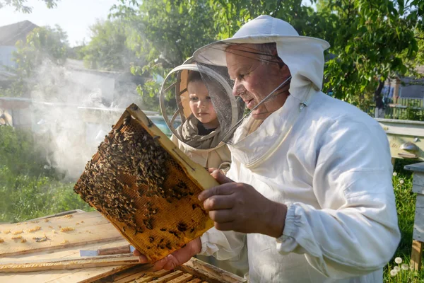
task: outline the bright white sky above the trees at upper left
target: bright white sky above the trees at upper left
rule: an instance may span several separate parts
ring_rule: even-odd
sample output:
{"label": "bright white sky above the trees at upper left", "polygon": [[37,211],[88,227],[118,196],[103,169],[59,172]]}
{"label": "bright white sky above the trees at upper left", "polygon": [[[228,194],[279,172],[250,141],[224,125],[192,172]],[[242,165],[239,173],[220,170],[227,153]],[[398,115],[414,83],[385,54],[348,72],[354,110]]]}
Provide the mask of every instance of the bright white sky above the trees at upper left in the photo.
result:
{"label": "bright white sky above the trees at upper left", "polygon": [[11,7],[0,8],[0,26],[20,21],[31,21],[43,26],[56,24],[68,34],[69,44],[73,47],[85,40],[90,41],[90,30],[97,19],[105,20],[110,7],[117,0],[60,0],[57,8],[49,9],[44,1],[28,0],[26,6],[33,7],[32,13],[20,13]]}

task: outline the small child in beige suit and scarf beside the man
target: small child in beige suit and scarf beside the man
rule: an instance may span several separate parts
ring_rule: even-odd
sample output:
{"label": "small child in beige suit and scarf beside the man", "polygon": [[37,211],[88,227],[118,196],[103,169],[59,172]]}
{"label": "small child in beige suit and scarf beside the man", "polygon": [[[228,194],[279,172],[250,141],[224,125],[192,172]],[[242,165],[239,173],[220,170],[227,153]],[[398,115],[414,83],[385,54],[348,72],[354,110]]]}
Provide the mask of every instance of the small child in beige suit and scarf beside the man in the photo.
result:
{"label": "small child in beige suit and scarf beside the man", "polygon": [[[218,110],[221,111],[221,122],[227,123],[227,126],[231,126],[233,117],[236,117],[235,120],[240,118],[244,105],[241,103],[232,108],[231,100],[233,104],[237,104],[232,93],[225,91],[225,88],[211,78],[206,79],[208,83],[204,83],[202,74],[195,66],[191,64],[192,68],[187,67],[179,72],[175,95],[179,112],[185,121],[177,129],[172,129],[175,132],[171,140],[194,162],[205,168],[218,168],[225,173],[230,169],[231,154],[228,146],[222,141],[226,133],[222,130],[211,96],[215,99],[214,102],[220,105]],[[231,90],[230,85],[226,89]],[[228,115],[231,109],[236,111]],[[248,271],[247,250],[243,250],[240,258],[234,260],[217,260],[212,256],[203,255],[197,255],[196,258],[242,277]]]}

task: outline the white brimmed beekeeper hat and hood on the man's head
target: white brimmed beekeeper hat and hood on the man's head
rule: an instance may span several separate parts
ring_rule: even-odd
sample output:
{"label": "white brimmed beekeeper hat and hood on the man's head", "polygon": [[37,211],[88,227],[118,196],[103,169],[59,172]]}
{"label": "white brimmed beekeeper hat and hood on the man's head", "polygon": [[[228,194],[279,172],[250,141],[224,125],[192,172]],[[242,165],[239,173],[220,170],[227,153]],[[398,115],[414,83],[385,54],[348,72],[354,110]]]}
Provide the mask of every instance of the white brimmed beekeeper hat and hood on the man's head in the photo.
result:
{"label": "white brimmed beekeeper hat and hood on the man's head", "polygon": [[[199,62],[199,65],[226,66],[226,52],[231,52],[228,47],[272,42],[276,43],[277,58],[281,59],[283,61],[281,64],[286,64],[290,70],[291,81],[287,81],[287,83],[290,83],[290,96],[306,101],[309,98],[309,94],[305,89],[310,90],[312,87],[312,91],[321,90],[324,72],[324,50],[329,48],[329,43],[314,37],[300,36],[289,23],[271,16],[259,16],[243,25],[233,37],[201,47],[194,52],[194,59]],[[253,48],[250,52],[243,52],[261,54]],[[239,53],[237,55],[242,56]],[[275,58],[269,57],[270,54],[261,55],[265,56],[256,56],[254,58],[275,63]],[[252,54],[246,54],[245,56],[252,58]],[[266,56],[268,56],[268,60]],[[272,97],[269,96],[266,99],[268,98]]]}

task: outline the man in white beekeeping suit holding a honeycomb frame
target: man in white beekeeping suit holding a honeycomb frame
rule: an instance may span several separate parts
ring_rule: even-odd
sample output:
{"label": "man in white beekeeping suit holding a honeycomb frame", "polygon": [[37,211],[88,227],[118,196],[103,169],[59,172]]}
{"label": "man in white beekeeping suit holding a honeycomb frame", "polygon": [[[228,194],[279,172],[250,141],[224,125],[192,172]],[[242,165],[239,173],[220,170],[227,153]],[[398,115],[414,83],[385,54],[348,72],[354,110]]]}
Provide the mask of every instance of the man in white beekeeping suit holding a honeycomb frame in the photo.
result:
{"label": "man in white beekeeping suit holding a honeycomb frame", "polygon": [[247,235],[250,282],[382,282],[400,238],[387,137],[320,91],[328,47],[259,16],[194,53],[226,65],[254,111],[232,138],[227,176],[212,172],[222,185],[199,196],[215,227],[156,268],[234,258]]}

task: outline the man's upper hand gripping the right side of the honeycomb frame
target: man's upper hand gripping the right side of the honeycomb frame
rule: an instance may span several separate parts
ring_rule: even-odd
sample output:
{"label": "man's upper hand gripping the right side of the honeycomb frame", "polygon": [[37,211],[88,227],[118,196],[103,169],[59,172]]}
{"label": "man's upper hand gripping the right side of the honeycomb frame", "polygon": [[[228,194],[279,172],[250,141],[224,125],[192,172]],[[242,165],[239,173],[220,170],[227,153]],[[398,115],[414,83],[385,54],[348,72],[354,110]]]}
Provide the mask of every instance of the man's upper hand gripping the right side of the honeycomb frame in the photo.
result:
{"label": "man's upper hand gripping the right side of the honeycomb frame", "polygon": [[221,231],[262,233],[275,238],[283,234],[285,204],[273,202],[251,185],[235,183],[216,169],[209,172],[221,185],[201,192],[199,200]]}

